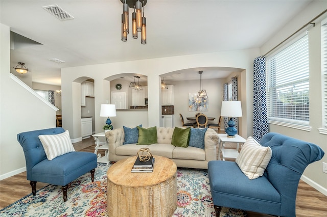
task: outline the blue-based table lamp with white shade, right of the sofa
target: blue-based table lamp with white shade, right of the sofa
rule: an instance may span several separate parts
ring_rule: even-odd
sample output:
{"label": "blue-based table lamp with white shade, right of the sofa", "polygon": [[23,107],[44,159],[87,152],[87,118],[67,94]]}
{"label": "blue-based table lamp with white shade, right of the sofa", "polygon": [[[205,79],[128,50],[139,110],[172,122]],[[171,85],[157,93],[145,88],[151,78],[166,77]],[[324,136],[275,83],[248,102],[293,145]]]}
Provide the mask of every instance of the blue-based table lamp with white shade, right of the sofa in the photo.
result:
{"label": "blue-based table lamp with white shade, right of the sofa", "polygon": [[242,117],[241,101],[222,101],[220,115],[223,117],[230,117],[225,132],[228,137],[234,138],[237,134],[237,128],[235,127],[233,117]]}

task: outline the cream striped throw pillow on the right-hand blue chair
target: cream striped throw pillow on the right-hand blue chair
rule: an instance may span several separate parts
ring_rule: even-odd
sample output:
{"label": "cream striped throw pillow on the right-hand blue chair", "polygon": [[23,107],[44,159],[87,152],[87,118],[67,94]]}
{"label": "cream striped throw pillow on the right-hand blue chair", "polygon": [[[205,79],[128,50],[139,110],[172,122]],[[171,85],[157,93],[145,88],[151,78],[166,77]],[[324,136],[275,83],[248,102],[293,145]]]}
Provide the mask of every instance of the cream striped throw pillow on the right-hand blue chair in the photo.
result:
{"label": "cream striped throw pillow on the right-hand blue chair", "polygon": [[256,179],[264,174],[271,155],[270,147],[264,147],[249,137],[236,158],[236,164],[249,179]]}

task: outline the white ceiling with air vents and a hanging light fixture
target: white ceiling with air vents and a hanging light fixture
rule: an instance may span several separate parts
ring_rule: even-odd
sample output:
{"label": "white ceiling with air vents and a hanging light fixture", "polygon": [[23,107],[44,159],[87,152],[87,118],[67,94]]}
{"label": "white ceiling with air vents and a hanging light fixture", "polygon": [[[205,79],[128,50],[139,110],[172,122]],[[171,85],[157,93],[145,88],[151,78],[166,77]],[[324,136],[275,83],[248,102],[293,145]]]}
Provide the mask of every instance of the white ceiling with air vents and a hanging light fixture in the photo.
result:
{"label": "white ceiling with air vents and a hanging light fixture", "polygon": [[[11,50],[11,67],[24,62],[33,82],[61,85],[64,67],[260,47],[310,2],[149,0],[144,10],[146,45],[140,36],[121,41],[120,0],[1,0],[0,20],[12,32],[42,44]],[[74,19],[57,19],[42,8],[49,5],[58,5]],[[203,79],[205,74],[224,77],[232,70],[237,69],[208,69]],[[182,72],[165,80],[199,79],[197,73],[186,78]]]}

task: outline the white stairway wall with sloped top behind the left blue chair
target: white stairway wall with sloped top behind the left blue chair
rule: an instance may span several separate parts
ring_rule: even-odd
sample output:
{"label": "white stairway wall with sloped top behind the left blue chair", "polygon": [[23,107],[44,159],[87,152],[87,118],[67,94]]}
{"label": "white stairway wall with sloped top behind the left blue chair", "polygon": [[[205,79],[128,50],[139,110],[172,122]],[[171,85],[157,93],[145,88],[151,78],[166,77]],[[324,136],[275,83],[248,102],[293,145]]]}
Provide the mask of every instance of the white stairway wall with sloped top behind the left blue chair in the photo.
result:
{"label": "white stairway wall with sloped top behind the left blue chair", "polygon": [[0,24],[0,179],[26,170],[20,132],[56,127],[56,111],[10,78],[10,31]]}

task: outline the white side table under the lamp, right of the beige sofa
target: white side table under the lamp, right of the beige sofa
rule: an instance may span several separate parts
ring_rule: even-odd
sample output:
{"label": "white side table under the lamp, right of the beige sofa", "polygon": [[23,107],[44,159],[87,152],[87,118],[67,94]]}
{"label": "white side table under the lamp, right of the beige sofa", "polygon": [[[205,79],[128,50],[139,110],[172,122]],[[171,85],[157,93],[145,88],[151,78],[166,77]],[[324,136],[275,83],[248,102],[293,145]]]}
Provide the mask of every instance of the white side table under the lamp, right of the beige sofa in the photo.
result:
{"label": "white side table under the lamp, right of the beige sofa", "polygon": [[[218,158],[220,160],[220,151],[222,153],[222,158],[237,158],[239,155],[240,143],[245,143],[246,139],[242,138],[240,135],[236,134],[235,138],[227,137],[227,134],[218,134],[220,138],[219,148],[218,148]],[[236,149],[224,149],[225,143],[237,143]]]}

